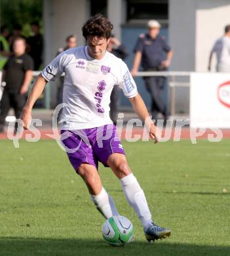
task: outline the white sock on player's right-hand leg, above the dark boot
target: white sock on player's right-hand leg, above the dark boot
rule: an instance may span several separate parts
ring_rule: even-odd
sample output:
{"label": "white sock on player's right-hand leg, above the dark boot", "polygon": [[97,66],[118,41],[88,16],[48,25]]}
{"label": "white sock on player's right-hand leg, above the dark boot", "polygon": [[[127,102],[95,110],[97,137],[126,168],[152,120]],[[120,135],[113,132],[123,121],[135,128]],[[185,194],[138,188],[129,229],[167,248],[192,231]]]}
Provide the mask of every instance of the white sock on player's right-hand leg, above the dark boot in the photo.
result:
{"label": "white sock on player's right-hand leg, above the dark boot", "polygon": [[136,215],[142,222],[144,230],[147,230],[151,223],[151,213],[147,205],[144,191],[132,173],[120,179],[120,181],[126,200],[136,211]]}

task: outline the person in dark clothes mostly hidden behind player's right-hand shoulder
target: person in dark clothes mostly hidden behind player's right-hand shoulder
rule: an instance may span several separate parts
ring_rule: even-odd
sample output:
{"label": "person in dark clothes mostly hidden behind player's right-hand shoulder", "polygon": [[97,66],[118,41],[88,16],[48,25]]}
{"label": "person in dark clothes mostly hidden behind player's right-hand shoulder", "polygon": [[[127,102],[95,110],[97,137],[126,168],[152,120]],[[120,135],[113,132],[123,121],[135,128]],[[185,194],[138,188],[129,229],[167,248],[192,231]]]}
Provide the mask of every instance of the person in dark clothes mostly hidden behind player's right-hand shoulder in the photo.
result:
{"label": "person in dark clothes mostly hidden behind player's right-hand shoulder", "polygon": [[[125,60],[128,56],[128,50],[125,45],[121,43],[114,35],[112,35],[109,44],[107,45],[107,51],[114,54],[118,58]],[[110,96],[110,117],[113,123],[117,123],[117,111],[119,108],[119,86],[115,85]]]}

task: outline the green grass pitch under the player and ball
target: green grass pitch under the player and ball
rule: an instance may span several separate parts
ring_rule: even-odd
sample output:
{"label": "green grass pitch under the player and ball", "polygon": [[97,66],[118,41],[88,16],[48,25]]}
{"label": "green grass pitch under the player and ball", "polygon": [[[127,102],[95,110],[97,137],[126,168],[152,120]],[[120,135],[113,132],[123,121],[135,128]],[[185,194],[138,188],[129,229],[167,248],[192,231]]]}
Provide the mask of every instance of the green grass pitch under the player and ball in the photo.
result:
{"label": "green grass pitch under the player and ball", "polygon": [[121,185],[100,165],[105,189],[134,224],[134,240],[111,247],[103,217],[53,140],[0,141],[0,255],[230,255],[229,140],[191,144],[123,142],[157,224],[172,228],[148,244]]}

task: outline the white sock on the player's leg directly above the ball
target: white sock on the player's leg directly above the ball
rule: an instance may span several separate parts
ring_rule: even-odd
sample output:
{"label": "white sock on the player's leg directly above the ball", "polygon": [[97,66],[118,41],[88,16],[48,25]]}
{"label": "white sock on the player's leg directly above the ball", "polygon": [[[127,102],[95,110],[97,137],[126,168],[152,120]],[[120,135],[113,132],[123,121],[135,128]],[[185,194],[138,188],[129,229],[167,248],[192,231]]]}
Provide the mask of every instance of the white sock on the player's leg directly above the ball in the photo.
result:
{"label": "white sock on the player's leg directly above the ball", "polygon": [[107,194],[104,188],[102,188],[100,194],[97,196],[90,195],[90,198],[105,219],[109,219],[113,215],[119,215],[115,207],[115,203],[113,202],[113,198]]}

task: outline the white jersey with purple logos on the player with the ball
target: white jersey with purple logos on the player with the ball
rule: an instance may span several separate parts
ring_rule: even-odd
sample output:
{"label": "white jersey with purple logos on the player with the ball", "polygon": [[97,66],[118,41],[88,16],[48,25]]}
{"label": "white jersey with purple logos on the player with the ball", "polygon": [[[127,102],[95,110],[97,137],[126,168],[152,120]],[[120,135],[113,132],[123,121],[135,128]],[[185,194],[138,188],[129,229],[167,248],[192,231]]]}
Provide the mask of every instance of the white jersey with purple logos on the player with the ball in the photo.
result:
{"label": "white jersey with purple logos on the player with the ball", "polygon": [[138,94],[136,83],[125,62],[106,52],[102,60],[91,58],[87,47],[68,49],[60,53],[41,75],[54,81],[65,73],[62,111],[64,130],[87,129],[112,123],[109,117],[110,95],[119,85],[125,96]]}

